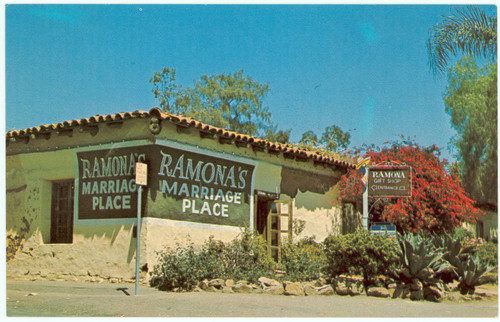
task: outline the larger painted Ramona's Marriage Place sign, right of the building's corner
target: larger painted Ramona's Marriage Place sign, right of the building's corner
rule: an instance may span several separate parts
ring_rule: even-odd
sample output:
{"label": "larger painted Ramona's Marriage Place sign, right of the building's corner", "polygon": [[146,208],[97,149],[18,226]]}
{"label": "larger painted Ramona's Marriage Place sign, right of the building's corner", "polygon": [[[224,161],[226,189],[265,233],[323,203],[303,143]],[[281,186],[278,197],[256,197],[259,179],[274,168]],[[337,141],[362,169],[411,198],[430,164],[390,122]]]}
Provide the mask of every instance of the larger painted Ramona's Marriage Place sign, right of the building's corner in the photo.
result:
{"label": "larger painted Ramona's Marriage Place sign, right of the building's corner", "polygon": [[249,225],[253,165],[160,146],[154,217]]}

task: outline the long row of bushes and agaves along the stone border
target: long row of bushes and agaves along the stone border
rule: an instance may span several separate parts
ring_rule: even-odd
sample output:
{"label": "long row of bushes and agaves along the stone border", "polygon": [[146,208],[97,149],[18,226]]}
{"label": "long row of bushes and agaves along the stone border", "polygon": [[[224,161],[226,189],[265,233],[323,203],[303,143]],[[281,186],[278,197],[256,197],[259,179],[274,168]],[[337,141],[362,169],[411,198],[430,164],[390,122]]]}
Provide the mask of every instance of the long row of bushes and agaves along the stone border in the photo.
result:
{"label": "long row of bushes and agaves along the stone border", "polygon": [[[322,244],[305,238],[282,245],[280,268],[290,281],[310,281],[324,273],[334,283],[339,275],[361,275],[365,291],[388,276],[412,290],[458,280],[463,293],[472,293],[498,267],[498,246],[464,246],[463,240],[412,234],[395,240],[366,231],[329,236]],[[150,284],[160,290],[191,290],[205,279],[256,282],[261,276],[274,278],[276,267],[264,239],[245,230],[229,243],[210,237],[198,247],[178,244],[159,252]]]}

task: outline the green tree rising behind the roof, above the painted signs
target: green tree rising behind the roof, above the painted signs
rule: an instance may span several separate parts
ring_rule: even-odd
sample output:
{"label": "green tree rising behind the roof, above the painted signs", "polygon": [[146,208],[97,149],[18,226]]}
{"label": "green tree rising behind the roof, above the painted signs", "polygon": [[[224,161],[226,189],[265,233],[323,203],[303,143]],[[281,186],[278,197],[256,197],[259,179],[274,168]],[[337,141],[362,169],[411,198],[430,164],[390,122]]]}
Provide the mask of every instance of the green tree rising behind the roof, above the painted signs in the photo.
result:
{"label": "green tree rising behind the roof, above the painted signs", "polygon": [[175,69],[155,72],[149,81],[160,107],[217,127],[248,134],[266,134],[271,126],[271,112],[263,105],[269,85],[234,74],[202,76],[192,88],[176,84]]}

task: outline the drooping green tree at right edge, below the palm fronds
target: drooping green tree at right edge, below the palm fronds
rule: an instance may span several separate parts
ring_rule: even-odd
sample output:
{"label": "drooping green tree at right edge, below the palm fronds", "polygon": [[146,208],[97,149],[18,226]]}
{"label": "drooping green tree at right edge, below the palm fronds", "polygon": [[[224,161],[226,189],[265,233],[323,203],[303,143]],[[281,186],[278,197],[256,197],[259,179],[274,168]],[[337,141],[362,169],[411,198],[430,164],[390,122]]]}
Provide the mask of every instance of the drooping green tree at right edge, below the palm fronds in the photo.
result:
{"label": "drooping green tree at right edge, below the palm fronds", "polygon": [[445,92],[446,112],[457,131],[460,179],[479,202],[497,203],[497,65],[479,68],[463,58],[450,69]]}

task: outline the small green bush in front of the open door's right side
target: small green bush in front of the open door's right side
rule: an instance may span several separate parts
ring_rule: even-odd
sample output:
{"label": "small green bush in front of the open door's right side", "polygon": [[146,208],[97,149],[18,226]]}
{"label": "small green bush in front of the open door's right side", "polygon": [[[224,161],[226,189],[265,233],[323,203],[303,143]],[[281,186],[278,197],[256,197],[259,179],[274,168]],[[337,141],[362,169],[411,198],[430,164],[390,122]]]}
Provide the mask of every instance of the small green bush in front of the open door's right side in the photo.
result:
{"label": "small green bush in front of the open door's right side", "polygon": [[282,245],[281,268],[288,281],[311,281],[321,277],[326,265],[322,245],[311,238],[301,239],[297,244]]}

